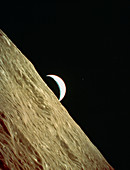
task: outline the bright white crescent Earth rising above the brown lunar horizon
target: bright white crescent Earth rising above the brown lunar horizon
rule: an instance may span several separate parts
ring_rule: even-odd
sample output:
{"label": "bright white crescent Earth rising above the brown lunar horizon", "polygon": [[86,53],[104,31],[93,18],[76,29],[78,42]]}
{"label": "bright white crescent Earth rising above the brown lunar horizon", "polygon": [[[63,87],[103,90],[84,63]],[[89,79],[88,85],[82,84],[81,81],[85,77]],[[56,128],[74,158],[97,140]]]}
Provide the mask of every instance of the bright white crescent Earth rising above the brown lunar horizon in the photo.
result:
{"label": "bright white crescent Earth rising above the brown lunar horizon", "polygon": [[57,83],[59,90],[60,90],[59,101],[61,101],[66,94],[66,85],[65,85],[64,81],[59,76],[56,76],[53,74],[49,74],[49,75],[47,75],[47,77],[53,78],[55,80],[55,82]]}

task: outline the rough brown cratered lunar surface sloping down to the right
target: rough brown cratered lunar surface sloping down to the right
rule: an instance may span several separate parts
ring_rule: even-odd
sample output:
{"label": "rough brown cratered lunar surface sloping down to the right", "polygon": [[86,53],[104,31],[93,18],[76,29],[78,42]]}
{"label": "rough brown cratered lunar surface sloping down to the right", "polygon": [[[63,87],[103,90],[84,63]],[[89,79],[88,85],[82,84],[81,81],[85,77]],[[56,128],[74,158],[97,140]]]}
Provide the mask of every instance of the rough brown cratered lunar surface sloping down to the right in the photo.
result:
{"label": "rough brown cratered lunar surface sloping down to the right", "polygon": [[113,170],[2,30],[0,169]]}

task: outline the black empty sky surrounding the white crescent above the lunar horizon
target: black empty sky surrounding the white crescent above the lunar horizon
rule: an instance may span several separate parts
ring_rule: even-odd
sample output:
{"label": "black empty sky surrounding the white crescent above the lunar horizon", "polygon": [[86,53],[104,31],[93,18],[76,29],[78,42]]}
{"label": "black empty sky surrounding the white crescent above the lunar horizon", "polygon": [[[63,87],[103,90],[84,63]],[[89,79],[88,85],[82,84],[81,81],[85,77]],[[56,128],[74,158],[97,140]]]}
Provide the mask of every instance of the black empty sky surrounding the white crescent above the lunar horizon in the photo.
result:
{"label": "black empty sky surrounding the white crescent above the lunar horizon", "polygon": [[57,96],[46,75],[63,78],[62,104],[115,169],[128,169],[130,6],[113,1],[2,6],[1,29]]}

